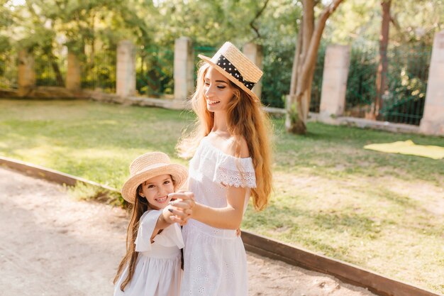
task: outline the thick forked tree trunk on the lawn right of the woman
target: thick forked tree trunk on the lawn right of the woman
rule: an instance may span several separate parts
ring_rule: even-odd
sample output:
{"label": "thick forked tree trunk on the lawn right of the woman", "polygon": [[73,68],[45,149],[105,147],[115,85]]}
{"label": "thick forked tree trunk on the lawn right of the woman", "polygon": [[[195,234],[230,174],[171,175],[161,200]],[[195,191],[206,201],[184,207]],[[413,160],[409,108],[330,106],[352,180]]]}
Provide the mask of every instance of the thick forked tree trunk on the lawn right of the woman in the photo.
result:
{"label": "thick forked tree trunk on the lawn right of the woman", "polygon": [[320,1],[303,0],[303,15],[299,27],[296,50],[292,70],[292,82],[287,102],[287,118],[285,126],[291,133],[306,133],[306,121],[309,115],[311,82],[316,65],[319,44],[321,43],[323,29],[331,14],[338,8],[343,0],[333,0],[331,4],[323,7],[318,17],[316,27],[315,6]]}

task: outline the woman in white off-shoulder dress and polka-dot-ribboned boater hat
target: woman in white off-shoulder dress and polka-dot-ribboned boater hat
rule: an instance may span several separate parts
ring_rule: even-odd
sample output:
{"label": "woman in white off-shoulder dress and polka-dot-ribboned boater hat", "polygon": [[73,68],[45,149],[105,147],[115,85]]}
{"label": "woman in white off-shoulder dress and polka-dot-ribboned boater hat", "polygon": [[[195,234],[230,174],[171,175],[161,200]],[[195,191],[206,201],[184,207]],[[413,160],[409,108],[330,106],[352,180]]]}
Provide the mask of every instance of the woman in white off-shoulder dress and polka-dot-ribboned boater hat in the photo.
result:
{"label": "woman in white off-shoulder dress and polka-dot-ribboned boater hat", "polygon": [[[245,249],[235,235],[250,196],[264,209],[272,190],[270,121],[252,87],[262,71],[225,43],[198,72],[192,97],[198,121],[179,143],[196,205],[184,226],[182,296],[246,296]],[[186,198],[175,193],[174,197]],[[174,204],[175,202],[173,202]]]}

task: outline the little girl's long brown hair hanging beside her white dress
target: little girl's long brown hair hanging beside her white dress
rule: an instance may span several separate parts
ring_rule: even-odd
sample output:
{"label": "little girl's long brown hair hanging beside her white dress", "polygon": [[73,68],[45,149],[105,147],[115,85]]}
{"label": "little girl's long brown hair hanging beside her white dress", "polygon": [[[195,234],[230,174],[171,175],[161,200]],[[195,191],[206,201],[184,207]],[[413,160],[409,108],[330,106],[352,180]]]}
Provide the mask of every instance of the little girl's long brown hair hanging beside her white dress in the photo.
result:
{"label": "little girl's long brown hair hanging beside her white dress", "polygon": [[126,285],[130,283],[131,278],[133,278],[134,275],[135,263],[138,258],[138,252],[135,251],[135,238],[137,237],[139,229],[140,217],[149,209],[148,200],[145,199],[145,197],[141,197],[139,191],[140,186],[135,194],[135,202],[131,210],[131,221],[130,224],[128,224],[128,230],[126,232],[126,255],[118,265],[116,277],[114,277],[113,281],[113,283],[116,284],[118,278],[122,275],[123,270],[125,270],[128,265],[128,275],[126,275],[126,278],[123,280],[120,287],[122,292]]}

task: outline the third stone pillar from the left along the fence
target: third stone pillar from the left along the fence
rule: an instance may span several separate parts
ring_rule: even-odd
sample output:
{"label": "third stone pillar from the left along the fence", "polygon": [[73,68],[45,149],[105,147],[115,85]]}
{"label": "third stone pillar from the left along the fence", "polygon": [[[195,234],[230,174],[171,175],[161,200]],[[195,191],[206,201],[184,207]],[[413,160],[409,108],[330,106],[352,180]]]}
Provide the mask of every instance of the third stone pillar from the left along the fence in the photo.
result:
{"label": "third stone pillar from the left along the fence", "polygon": [[120,97],[135,94],[135,47],[130,40],[118,43],[116,94]]}

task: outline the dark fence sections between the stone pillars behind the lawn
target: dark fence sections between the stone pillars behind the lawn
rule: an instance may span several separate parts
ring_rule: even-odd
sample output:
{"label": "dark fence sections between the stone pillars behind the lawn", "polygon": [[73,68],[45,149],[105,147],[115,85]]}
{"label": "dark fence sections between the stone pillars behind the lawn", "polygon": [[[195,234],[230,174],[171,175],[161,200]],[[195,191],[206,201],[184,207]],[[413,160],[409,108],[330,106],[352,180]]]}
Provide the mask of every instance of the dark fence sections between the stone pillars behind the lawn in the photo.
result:
{"label": "dark fence sections between the stone pillars behind the lawn", "polygon": [[[195,70],[197,55],[211,57],[216,48],[194,47]],[[310,111],[318,112],[321,101],[323,63],[326,45],[321,45],[313,74]],[[416,124],[421,121],[426,98],[431,48],[424,45],[389,46],[385,87],[382,89],[378,120]],[[263,48],[262,102],[266,106],[284,108],[292,75],[294,48]],[[35,51],[34,70],[37,86],[65,85],[67,58],[65,55]],[[116,48],[86,50],[80,60],[82,88],[116,91]],[[377,98],[377,67],[379,45],[353,45],[350,53],[345,116],[370,117]],[[136,52],[136,89],[149,97],[168,97],[174,93],[174,48],[140,46]],[[194,71],[196,75],[196,71]],[[0,53],[0,88],[18,87],[18,54],[11,50]]]}

